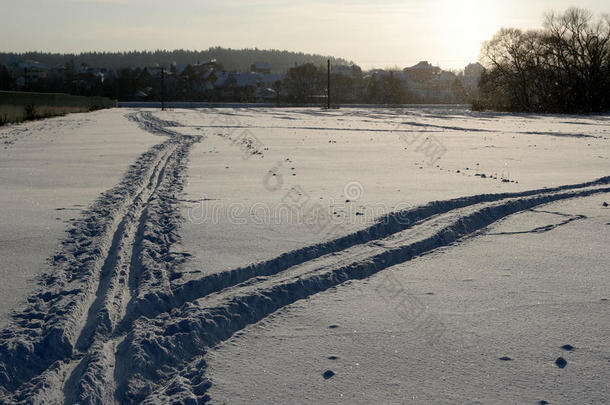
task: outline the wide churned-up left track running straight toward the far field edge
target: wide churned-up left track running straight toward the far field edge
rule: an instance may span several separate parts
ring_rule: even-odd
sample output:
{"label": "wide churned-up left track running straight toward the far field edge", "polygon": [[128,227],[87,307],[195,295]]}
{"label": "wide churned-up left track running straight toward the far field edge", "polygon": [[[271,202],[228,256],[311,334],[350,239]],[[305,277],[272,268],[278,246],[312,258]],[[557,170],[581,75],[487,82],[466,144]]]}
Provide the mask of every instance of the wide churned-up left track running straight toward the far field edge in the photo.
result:
{"label": "wide churned-up left track running straight toward the far field edge", "polygon": [[[181,219],[176,197],[201,137],[168,130],[176,123],[151,113],[128,118],[170,138],[142,154],[75,221],[40,292],[0,334],[0,403],[112,402],[100,383],[112,376],[117,325],[144,289],[171,293],[163,280],[186,257],[171,251]],[[158,265],[148,266],[151,260]]]}

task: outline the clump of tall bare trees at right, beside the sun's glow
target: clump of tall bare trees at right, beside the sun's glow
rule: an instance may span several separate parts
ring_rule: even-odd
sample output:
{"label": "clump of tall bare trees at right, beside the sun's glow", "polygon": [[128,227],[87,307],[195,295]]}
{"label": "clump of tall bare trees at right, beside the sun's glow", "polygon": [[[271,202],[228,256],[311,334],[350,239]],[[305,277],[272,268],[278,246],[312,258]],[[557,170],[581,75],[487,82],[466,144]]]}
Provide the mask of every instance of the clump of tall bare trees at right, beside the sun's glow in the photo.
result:
{"label": "clump of tall bare trees at right, beside the sun's glow", "polygon": [[503,28],[483,44],[475,109],[590,113],[610,110],[610,17],[570,8],[542,29]]}

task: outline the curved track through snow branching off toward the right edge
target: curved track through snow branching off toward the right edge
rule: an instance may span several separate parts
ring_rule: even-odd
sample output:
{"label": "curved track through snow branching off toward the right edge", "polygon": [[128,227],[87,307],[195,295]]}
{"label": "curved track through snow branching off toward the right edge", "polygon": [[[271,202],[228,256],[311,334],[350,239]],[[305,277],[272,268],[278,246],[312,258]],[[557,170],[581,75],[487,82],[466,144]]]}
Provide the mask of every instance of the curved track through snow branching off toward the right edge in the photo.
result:
{"label": "curved track through snow branching off toward the right edge", "polygon": [[[258,269],[267,275],[252,271],[252,277],[238,283],[234,276],[241,273],[220,273],[215,277],[224,279],[224,289],[189,297],[169,312],[134,322],[118,348],[118,358],[128,367],[118,376],[117,398],[122,403],[205,403],[210,382],[202,356],[244,327],[297,300],[476,234],[509,215],[553,201],[608,193],[609,185],[610,177],[605,177],[555,189],[435,202],[424,206],[427,209],[410,210],[424,218],[402,229],[369,230],[346,248],[339,243],[341,238],[326,249],[305,248],[303,255],[295,254],[292,265],[282,266],[290,254],[260,264]],[[310,257],[303,258],[308,251]],[[269,263],[274,265],[266,267]],[[175,290],[174,298],[179,294]]]}

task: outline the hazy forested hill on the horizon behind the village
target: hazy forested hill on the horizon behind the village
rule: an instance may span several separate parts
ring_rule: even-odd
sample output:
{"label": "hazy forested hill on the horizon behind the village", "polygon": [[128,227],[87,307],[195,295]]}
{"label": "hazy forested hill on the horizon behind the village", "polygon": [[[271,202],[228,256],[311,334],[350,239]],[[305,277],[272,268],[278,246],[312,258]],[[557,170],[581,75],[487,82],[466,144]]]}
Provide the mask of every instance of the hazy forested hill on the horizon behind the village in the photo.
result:
{"label": "hazy forested hill on the horizon behind the village", "polygon": [[0,65],[7,65],[11,58],[19,60],[34,60],[47,66],[65,65],[94,66],[105,69],[120,69],[131,66],[168,67],[172,63],[193,64],[198,61],[216,59],[227,71],[249,71],[254,62],[266,62],[272,72],[286,72],[296,65],[311,62],[315,65],[325,65],[330,59],[333,64],[349,64],[345,59],[308,54],[303,52],[281,51],[276,49],[231,49],[212,47],[207,50],[194,51],[185,49],[129,51],[129,52],[84,52],[79,54],[61,54],[46,52],[0,53]]}

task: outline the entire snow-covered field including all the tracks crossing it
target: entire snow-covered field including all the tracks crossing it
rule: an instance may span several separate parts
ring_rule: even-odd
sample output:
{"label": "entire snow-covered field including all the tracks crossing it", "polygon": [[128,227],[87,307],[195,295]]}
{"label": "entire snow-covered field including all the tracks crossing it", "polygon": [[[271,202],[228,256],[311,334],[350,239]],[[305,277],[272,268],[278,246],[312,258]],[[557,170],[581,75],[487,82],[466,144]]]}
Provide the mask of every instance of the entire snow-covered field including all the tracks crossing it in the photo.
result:
{"label": "entire snow-covered field including all the tracks crossing it", "polygon": [[2,129],[0,402],[607,402],[609,124],[227,108]]}

